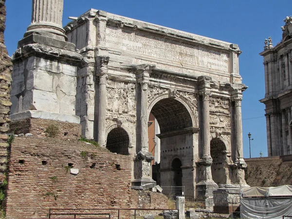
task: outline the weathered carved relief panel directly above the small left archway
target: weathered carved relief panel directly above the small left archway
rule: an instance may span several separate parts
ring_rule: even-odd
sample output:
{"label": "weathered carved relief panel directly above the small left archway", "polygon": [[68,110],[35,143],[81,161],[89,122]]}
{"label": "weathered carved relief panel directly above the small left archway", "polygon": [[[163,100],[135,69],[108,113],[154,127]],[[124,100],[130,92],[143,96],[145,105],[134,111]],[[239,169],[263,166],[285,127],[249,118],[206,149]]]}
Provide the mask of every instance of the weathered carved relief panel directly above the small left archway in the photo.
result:
{"label": "weathered carved relief panel directly above the small left archway", "polygon": [[108,81],[107,117],[120,118],[124,115],[135,117],[135,85]]}

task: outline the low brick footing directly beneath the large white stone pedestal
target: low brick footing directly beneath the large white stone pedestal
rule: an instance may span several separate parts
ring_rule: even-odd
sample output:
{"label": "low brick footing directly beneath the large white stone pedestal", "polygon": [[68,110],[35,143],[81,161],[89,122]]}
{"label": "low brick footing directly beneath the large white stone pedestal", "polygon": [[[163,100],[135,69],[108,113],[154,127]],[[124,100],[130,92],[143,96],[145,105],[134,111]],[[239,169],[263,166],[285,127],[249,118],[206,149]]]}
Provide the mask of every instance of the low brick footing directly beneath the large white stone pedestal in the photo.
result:
{"label": "low brick footing directly beneath the large white stone pedestal", "polygon": [[78,139],[81,134],[81,125],[76,123],[60,122],[48,119],[27,118],[10,123],[10,132],[32,133],[38,137],[45,137],[46,128],[54,125],[58,128],[56,138],[61,139]]}

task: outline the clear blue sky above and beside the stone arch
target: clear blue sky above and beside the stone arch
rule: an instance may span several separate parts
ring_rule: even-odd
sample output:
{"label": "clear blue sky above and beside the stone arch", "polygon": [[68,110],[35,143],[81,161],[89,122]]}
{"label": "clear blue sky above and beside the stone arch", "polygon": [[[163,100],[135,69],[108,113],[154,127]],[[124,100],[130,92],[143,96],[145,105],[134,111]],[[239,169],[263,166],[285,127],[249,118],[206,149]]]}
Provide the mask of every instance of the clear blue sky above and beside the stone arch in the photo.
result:
{"label": "clear blue sky above and beside the stone arch", "polygon": [[[9,55],[17,49],[31,21],[31,0],[6,0],[4,33]],[[249,88],[243,93],[242,124],[244,157],[249,157],[248,133],[252,134],[252,157],[267,156],[264,98],[264,39],[281,41],[283,19],[292,15],[291,0],[64,0],[63,25],[90,8],[211,37],[239,45],[239,71]]]}

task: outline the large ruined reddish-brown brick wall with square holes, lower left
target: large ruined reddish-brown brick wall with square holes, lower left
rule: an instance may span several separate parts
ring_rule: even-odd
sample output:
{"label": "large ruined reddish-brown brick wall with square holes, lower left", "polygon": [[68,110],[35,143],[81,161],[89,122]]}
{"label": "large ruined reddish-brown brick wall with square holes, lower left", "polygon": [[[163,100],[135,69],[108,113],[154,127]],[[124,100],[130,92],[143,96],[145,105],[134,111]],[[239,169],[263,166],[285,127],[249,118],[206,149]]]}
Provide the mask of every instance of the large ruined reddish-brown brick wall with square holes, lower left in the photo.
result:
{"label": "large ruined reddish-brown brick wall with square holes, lower left", "polygon": [[[16,137],[10,157],[9,218],[45,217],[49,208],[131,206],[130,156],[76,140],[32,136]],[[70,164],[79,169],[77,175],[70,174]]]}

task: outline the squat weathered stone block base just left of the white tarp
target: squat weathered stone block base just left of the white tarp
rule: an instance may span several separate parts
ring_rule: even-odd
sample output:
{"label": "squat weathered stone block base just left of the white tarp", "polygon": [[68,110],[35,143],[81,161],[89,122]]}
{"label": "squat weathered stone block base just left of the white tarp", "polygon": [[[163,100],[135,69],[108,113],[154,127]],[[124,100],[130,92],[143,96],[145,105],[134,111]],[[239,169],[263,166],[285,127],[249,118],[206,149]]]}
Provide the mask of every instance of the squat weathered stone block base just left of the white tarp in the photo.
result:
{"label": "squat weathered stone block base just left of the white tarp", "polygon": [[213,191],[214,213],[230,214],[240,204],[240,188],[233,184],[221,184]]}

